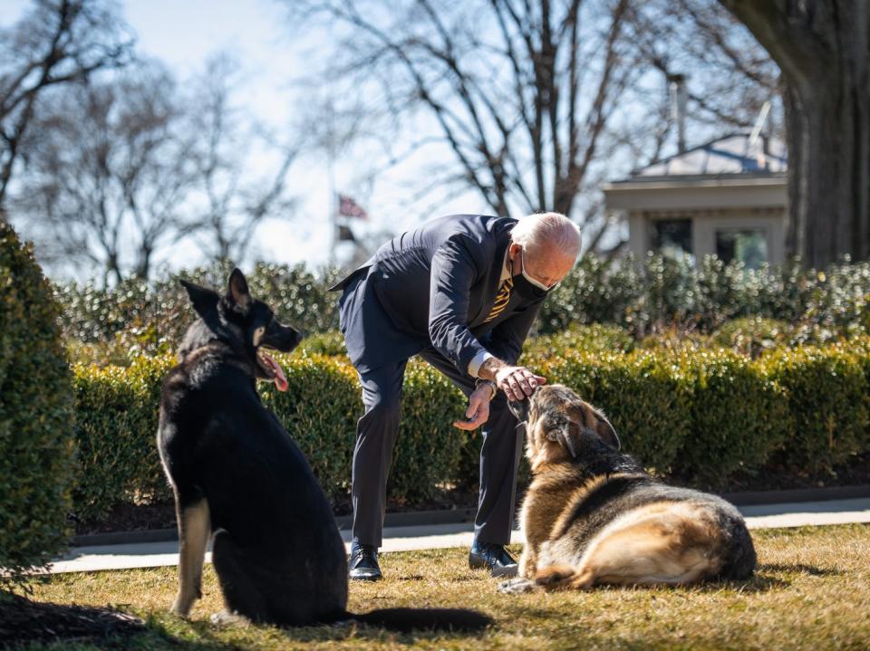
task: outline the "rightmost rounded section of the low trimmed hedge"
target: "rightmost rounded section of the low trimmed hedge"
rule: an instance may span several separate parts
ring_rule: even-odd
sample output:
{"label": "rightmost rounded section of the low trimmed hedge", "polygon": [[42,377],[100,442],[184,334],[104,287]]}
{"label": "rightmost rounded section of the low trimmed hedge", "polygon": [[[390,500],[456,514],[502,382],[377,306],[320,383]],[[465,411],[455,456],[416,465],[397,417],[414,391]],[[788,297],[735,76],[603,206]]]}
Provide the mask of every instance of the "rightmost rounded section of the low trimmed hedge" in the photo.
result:
{"label": "rightmost rounded section of the low trimmed hedge", "polygon": [[786,390],[794,418],[785,442],[787,464],[810,472],[830,470],[867,450],[866,366],[855,353],[837,346],[788,349],[762,363]]}

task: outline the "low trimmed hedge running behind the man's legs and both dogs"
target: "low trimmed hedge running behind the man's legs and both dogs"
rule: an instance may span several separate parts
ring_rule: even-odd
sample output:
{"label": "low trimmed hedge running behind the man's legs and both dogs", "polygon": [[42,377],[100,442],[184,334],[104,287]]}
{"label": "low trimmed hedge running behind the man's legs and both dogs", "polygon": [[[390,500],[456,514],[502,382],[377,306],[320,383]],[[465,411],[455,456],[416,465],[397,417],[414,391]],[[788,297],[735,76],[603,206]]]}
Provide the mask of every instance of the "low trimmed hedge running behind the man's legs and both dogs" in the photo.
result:
{"label": "low trimmed hedge running behind the man's legs and both dogs", "polygon": [[[623,447],[657,474],[724,486],[772,455],[796,470],[824,470],[870,451],[870,342],[802,348],[747,359],[725,350],[566,350],[529,363],[604,410]],[[305,351],[281,359],[285,393],[261,383],[334,501],[350,491],[362,400],[343,357]],[[169,358],[129,369],[75,368],[82,450],[75,510],[99,519],[123,501],[169,499],[154,445],[160,378]],[[441,488],[477,482],[480,436],[450,425],[465,399],[423,362],[406,372],[391,484],[394,500],[425,503]]]}

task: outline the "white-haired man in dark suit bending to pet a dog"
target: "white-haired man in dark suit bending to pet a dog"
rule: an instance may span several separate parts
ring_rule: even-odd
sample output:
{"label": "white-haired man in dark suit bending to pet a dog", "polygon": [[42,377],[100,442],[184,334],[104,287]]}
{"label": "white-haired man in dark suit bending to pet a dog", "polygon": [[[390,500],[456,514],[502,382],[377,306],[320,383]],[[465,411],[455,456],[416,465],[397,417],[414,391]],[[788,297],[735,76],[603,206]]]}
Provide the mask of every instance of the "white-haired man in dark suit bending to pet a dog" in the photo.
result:
{"label": "white-haired man in dark suit bending to pet a dog", "polygon": [[545,378],[517,366],[547,292],[580,250],[564,215],[520,220],[450,215],[393,238],[333,290],[362,385],[365,414],[353,452],[351,579],[381,578],[387,473],[399,428],[408,359],[420,355],[469,397],[461,429],[483,425],[472,568],[516,571],[505,550],[514,516],[522,428],[507,400],[530,396]]}

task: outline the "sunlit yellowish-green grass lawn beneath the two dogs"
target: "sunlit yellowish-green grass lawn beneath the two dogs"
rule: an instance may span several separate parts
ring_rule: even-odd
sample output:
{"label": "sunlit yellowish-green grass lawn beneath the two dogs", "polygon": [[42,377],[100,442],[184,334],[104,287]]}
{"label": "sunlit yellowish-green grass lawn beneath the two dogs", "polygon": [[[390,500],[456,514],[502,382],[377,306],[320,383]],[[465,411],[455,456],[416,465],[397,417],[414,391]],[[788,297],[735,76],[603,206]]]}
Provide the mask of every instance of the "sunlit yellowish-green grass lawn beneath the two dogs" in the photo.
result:
{"label": "sunlit yellowish-green grass lawn beneath the two dogs", "polygon": [[476,635],[394,635],[357,626],[282,630],[208,623],[220,590],[208,565],[189,621],[166,613],[175,569],[62,574],[34,582],[34,599],[114,605],[148,621],[124,640],[27,648],[565,649],[870,648],[870,525],[755,531],[759,569],[746,582],[691,589],[595,589],[498,594],[497,579],[468,569],[467,550],[382,557],[385,580],[353,584],[350,609],[477,608],[496,619]]}

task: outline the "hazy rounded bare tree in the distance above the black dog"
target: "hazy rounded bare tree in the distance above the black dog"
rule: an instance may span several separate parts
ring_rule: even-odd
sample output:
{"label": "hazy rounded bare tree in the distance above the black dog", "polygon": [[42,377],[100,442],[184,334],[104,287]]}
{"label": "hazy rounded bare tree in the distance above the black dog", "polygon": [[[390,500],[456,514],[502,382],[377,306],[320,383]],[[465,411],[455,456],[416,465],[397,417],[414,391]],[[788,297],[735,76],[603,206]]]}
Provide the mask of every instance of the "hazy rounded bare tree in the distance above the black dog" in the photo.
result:
{"label": "hazy rounded bare tree in the distance above the black dog", "polygon": [[164,244],[193,227],[196,134],[159,64],[65,87],[43,104],[14,211],[55,262],[147,278]]}

